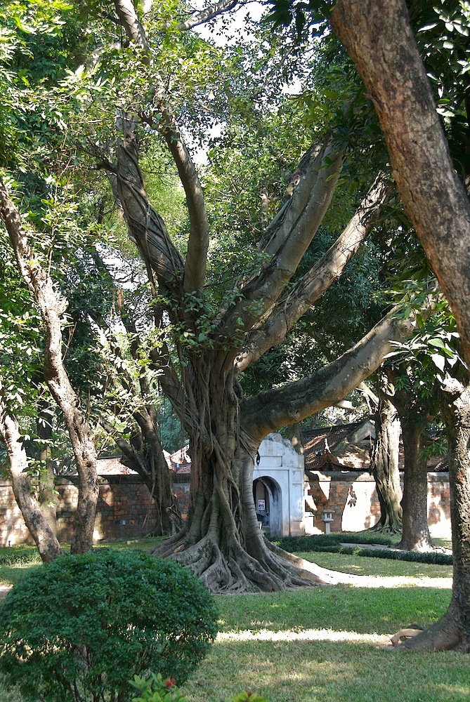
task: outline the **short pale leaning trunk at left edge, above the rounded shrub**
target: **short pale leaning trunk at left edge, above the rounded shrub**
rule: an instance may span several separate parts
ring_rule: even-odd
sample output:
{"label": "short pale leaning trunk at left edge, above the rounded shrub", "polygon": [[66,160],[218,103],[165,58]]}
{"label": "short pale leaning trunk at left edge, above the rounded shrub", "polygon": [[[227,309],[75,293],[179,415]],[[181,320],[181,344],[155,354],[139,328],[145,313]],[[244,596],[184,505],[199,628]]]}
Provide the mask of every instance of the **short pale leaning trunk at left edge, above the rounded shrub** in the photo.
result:
{"label": "short pale leaning trunk at left edge, above the rounded shrub", "polygon": [[[1,384],[0,384],[1,389]],[[3,395],[0,394],[0,436],[8,453],[13,494],[18,503],[27,528],[30,530],[39,555],[45,562],[62,555],[60,544],[44,517],[41,507],[34,497],[31,477],[27,473],[28,460],[22,444],[18,420],[8,410]]]}

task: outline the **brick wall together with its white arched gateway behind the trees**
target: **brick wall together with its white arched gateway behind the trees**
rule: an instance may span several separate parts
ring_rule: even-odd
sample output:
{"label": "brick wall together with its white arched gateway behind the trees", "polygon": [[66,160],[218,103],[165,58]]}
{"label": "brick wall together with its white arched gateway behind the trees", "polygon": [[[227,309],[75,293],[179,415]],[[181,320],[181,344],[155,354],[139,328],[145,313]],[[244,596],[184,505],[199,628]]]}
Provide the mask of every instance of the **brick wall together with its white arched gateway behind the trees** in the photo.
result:
{"label": "brick wall together with its white arched gateway behind the trees", "polygon": [[[356,435],[358,436],[358,435]],[[349,449],[348,449],[349,450]],[[316,451],[316,453],[315,453]],[[296,453],[292,444],[280,434],[266,437],[259,448],[259,461],[254,466],[254,502],[260,526],[273,536],[299,536],[325,531],[323,510],[332,510],[332,531],[363,531],[380,517],[374,479],[360,465],[354,470],[341,465],[341,460],[325,450],[315,449],[311,455],[322,461],[311,470],[312,461]],[[183,519],[188,514],[190,461],[177,452],[178,461],[169,462],[173,489]],[[325,458],[326,456],[326,458]],[[181,459],[181,460],[180,460]],[[175,459],[176,460],[176,459]],[[116,459],[113,459],[116,461]],[[152,532],[157,521],[155,501],[141,478],[129,470],[125,473],[114,465],[100,475],[100,498],[95,538],[136,538]],[[118,461],[119,463],[119,461]],[[77,504],[76,478],[61,477],[57,481],[59,496],[58,536],[70,541]],[[450,538],[450,501],[448,474],[428,473],[429,529],[431,536]],[[8,480],[0,481],[0,545],[32,541],[27,531],[13,490]]]}

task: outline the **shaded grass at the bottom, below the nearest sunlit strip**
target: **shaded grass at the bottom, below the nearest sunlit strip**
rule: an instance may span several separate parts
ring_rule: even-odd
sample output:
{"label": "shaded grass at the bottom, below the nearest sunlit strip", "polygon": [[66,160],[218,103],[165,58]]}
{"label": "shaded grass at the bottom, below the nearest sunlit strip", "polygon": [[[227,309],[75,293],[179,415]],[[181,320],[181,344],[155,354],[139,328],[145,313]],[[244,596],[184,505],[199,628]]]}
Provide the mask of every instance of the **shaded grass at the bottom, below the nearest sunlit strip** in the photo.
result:
{"label": "shaded grass at the bottom, below the nearest sunlit strip", "polygon": [[192,681],[189,702],[222,702],[252,689],[269,702],[464,702],[466,656],[378,650],[372,644],[217,642]]}

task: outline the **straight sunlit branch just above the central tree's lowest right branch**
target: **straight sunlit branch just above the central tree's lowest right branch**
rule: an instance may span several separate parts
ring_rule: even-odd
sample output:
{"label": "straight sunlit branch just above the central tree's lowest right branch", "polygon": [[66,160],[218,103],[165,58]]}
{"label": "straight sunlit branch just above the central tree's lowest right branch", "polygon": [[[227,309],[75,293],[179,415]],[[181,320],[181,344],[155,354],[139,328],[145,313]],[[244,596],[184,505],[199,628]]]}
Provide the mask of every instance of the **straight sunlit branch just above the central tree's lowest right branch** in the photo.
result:
{"label": "straight sunlit branch just above the central tree's lowest right branch", "polygon": [[247,344],[237,358],[237,369],[240,372],[261,358],[268,349],[282,343],[300,317],[341,276],[377,223],[389,192],[390,188],[381,180],[374,183],[339,239],[296,282],[289,294],[278,302],[266,322],[249,335]]}

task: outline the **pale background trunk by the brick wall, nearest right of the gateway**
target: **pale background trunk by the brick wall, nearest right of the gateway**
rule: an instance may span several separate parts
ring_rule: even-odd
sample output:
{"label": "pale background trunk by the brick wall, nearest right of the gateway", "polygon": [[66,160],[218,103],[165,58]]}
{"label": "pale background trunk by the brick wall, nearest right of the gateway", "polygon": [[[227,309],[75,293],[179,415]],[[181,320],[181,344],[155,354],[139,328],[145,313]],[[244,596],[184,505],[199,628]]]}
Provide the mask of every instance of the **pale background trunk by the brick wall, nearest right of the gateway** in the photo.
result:
{"label": "pale background trunk by the brick wall, nearest right of the gateway", "polygon": [[379,406],[375,415],[375,443],[370,461],[380,504],[380,519],[372,527],[374,531],[398,534],[401,530],[399,441],[398,414],[390,400],[380,393]]}

